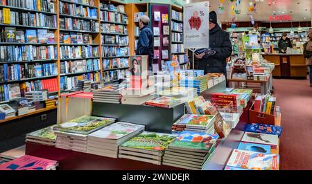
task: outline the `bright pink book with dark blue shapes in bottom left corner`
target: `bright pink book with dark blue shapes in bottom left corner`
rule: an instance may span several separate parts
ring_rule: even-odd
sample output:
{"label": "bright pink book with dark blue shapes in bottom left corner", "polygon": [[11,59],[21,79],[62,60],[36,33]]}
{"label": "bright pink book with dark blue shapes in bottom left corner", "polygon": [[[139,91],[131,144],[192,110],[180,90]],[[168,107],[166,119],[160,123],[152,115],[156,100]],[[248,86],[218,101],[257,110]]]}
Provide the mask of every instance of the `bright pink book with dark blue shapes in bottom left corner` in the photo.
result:
{"label": "bright pink book with dark blue shapes in bottom left corner", "polygon": [[24,155],[0,165],[0,170],[55,170],[58,162],[36,156]]}

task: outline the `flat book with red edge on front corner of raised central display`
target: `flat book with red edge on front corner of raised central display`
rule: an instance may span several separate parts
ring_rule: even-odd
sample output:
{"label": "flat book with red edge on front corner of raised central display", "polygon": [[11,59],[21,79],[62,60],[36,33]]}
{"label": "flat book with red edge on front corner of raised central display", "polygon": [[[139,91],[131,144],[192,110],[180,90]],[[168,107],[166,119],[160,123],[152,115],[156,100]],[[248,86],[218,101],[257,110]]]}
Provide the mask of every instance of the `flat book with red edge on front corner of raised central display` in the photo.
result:
{"label": "flat book with red edge on front corner of raised central display", "polygon": [[172,108],[182,103],[183,101],[180,98],[162,96],[159,98],[155,98],[155,100],[148,100],[146,102],[146,105],[154,107]]}

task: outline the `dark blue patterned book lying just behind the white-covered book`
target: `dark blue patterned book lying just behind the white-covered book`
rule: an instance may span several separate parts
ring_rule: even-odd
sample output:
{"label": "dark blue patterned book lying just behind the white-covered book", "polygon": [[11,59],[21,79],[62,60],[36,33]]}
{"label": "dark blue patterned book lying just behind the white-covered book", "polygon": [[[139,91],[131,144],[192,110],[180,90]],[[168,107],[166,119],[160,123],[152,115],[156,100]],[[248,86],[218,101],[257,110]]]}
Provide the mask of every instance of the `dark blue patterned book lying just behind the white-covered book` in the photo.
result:
{"label": "dark blue patterned book lying just behind the white-covered book", "polygon": [[279,126],[274,126],[274,125],[262,125],[262,124],[252,123],[250,125],[246,125],[245,131],[281,136],[282,128]]}

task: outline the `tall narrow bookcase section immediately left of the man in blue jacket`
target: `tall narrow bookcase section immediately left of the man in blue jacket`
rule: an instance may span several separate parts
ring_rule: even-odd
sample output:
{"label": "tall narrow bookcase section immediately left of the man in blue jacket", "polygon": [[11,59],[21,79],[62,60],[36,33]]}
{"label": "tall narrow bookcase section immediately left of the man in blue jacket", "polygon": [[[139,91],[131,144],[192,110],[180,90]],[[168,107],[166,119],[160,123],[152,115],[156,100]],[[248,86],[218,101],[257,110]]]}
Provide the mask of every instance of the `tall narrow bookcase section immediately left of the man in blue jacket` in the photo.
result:
{"label": "tall narrow bookcase section immediately left of the man in blue jacket", "polygon": [[101,64],[105,84],[123,80],[129,66],[127,12],[124,4],[100,1]]}

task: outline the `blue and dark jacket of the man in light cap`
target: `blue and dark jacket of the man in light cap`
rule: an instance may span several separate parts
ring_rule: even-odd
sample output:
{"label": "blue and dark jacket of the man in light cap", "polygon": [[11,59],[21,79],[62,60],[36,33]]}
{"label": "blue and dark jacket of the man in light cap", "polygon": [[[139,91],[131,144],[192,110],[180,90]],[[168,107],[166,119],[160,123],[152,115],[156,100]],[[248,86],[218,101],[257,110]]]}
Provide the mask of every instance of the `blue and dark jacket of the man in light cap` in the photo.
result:
{"label": "blue and dark jacket of the man in light cap", "polygon": [[153,31],[148,27],[144,26],[141,28],[139,40],[137,42],[136,55],[148,55],[148,63],[153,63],[154,59],[154,36]]}

